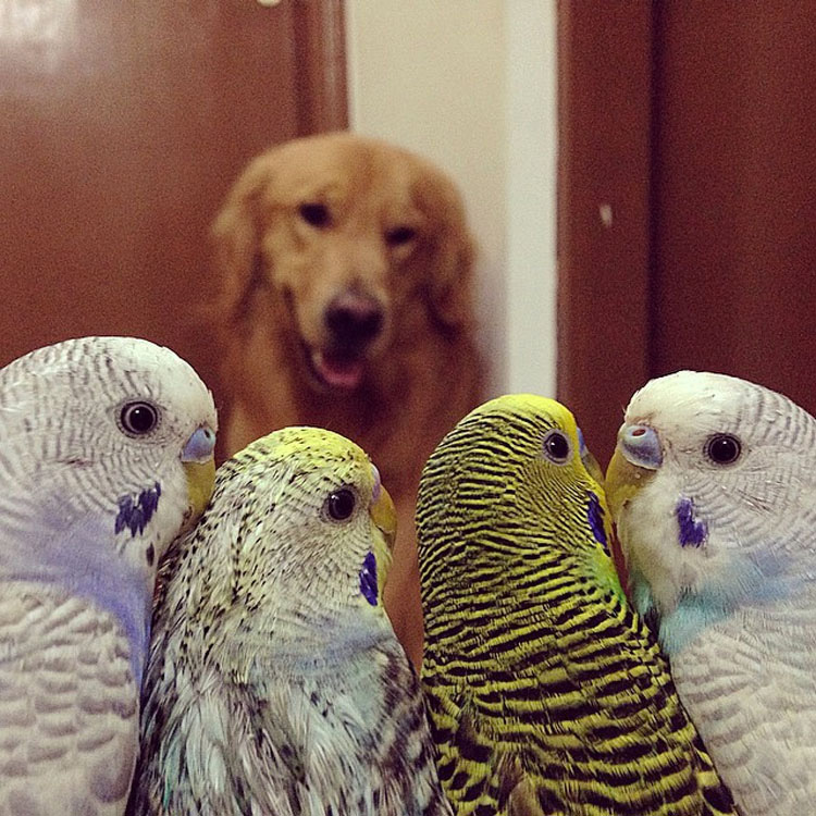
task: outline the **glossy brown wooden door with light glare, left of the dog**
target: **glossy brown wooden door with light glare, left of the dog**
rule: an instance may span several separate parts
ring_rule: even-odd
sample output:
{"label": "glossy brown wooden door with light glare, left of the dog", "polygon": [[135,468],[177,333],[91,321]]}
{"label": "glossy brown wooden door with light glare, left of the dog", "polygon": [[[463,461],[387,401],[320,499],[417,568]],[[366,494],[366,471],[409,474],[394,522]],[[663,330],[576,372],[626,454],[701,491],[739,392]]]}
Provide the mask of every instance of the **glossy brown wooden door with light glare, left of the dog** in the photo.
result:
{"label": "glossy brown wooden door with light glare, left of the dog", "polygon": [[84,334],[208,382],[208,227],[267,146],[346,125],[342,0],[0,2],[0,364]]}

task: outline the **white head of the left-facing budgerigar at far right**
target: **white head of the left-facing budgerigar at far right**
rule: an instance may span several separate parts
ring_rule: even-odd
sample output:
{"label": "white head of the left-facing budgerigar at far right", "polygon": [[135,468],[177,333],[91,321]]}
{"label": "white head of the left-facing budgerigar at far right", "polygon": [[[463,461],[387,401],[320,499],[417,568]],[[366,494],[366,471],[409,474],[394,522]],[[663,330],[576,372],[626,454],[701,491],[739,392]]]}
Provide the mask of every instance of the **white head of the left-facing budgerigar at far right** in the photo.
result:
{"label": "white head of the left-facing budgerigar at far right", "polygon": [[780,591],[812,546],[815,443],[806,411],[733,376],[680,371],[636,392],[606,489],[641,611]]}

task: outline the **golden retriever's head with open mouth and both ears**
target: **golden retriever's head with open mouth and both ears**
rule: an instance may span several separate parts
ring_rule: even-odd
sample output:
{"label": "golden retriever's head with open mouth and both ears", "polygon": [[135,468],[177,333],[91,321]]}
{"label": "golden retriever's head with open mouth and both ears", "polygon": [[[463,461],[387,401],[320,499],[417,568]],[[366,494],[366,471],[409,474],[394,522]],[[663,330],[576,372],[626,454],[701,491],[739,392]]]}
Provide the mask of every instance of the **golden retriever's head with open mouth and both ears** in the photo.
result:
{"label": "golden retriever's head with open mouth and both ears", "polygon": [[218,320],[234,331],[259,287],[271,292],[319,388],[354,391],[392,343],[472,320],[473,244],[456,187],[382,141],[334,133],[263,153],[213,238]]}

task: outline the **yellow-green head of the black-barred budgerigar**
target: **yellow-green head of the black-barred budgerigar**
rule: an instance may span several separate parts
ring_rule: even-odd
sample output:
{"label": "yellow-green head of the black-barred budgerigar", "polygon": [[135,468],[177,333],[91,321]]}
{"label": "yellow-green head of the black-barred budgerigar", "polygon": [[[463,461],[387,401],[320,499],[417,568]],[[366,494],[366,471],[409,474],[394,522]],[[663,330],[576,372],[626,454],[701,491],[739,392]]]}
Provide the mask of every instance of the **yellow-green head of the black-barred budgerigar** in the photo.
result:
{"label": "yellow-green head of the black-barred budgerigar", "polygon": [[540,597],[554,585],[547,577],[568,570],[594,570],[620,592],[604,552],[611,532],[606,499],[592,470],[601,477],[572,413],[553,399],[506,395],[465,417],[420,481],[426,615],[441,595],[458,593],[466,605],[489,585],[499,601]]}

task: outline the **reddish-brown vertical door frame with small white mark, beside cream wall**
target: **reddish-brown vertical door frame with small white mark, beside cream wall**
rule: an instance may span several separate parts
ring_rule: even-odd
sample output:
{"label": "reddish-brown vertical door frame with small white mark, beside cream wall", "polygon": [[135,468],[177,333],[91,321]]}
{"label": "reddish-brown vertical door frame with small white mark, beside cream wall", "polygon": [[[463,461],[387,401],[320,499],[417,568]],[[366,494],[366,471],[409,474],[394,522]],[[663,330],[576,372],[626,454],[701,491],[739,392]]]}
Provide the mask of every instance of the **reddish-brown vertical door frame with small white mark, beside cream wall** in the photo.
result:
{"label": "reddish-brown vertical door frame with small white mark, beside cream wall", "polygon": [[558,14],[558,396],[605,465],[648,370],[652,13]]}

